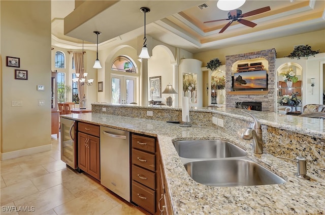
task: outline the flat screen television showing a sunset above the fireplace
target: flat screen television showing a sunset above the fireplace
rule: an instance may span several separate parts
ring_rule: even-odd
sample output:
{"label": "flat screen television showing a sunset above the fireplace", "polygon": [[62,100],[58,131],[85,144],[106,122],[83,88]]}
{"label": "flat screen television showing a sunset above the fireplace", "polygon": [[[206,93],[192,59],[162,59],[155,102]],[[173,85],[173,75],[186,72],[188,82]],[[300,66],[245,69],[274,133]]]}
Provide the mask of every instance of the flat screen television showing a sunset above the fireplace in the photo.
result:
{"label": "flat screen television showing a sunset above the fireplace", "polygon": [[235,73],[233,90],[267,90],[268,74],[266,70]]}

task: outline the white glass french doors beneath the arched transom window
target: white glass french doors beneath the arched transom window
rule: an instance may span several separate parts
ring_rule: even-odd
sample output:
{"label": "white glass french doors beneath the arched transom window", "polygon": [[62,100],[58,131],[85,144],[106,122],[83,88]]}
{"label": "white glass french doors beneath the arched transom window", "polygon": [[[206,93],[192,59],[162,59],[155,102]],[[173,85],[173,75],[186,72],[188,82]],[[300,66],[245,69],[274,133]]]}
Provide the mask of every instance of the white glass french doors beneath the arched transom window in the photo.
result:
{"label": "white glass french doors beneath the arched transom window", "polygon": [[111,83],[113,104],[130,104],[138,101],[136,77],[112,75]]}

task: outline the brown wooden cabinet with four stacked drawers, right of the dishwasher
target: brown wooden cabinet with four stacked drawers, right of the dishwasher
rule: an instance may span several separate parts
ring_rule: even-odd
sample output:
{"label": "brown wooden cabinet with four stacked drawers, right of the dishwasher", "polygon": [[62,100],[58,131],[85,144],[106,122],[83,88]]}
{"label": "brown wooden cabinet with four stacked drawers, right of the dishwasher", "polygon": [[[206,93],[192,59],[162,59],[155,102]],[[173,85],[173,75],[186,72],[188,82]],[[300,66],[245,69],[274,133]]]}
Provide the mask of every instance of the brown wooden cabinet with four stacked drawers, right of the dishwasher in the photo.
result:
{"label": "brown wooden cabinet with four stacked drawers, right of the dishwasher", "polygon": [[159,150],[154,137],[132,134],[132,202],[160,214]]}

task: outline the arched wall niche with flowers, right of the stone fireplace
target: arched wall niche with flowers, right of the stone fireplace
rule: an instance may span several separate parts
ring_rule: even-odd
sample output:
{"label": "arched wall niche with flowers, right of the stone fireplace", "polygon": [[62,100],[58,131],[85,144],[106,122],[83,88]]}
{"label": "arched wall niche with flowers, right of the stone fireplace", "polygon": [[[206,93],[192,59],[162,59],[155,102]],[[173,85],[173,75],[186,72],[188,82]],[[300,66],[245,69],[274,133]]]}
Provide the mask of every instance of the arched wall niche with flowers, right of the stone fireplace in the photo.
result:
{"label": "arched wall niche with flowers, right of the stone fireplace", "polygon": [[[292,85],[288,85],[283,78],[283,75],[281,73],[287,73],[289,71],[293,71],[296,76],[298,77],[298,81],[296,83],[293,83]],[[293,107],[286,104],[279,104],[279,100],[283,98],[283,96],[288,95],[291,96],[293,93],[298,93],[298,97],[303,99],[303,67],[294,62],[287,62],[282,65],[280,65],[276,69],[276,89],[277,89],[277,99],[275,100],[275,105],[277,107],[277,112],[286,114],[287,112],[293,112],[293,111],[301,111],[302,110],[302,103],[297,106]]]}

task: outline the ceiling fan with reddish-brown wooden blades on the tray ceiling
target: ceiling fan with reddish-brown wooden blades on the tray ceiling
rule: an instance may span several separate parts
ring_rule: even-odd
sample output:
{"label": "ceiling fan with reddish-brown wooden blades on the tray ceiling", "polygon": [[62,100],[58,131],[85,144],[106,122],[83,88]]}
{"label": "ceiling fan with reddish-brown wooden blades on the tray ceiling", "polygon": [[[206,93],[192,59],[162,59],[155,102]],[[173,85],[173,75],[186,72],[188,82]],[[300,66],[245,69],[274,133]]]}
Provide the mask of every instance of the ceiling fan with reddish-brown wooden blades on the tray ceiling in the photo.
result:
{"label": "ceiling fan with reddish-brown wooden blades on the tray ceiling", "polygon": [[211,20],[211,21],[206,21],[203,23],[210,23],[210,22],[217,22],[217,21],[223,21],[223,20],[231,20],[230,22],[228,22],[226,25],[224,25],[224,27],[220,30],[219,34],[224,32],[225,29],[227,29],[234,21],[238,21],[239,23],[242,23],[244,25],[247,25],[249,27],[255,27],[257,24],[251,21],[248,21],[246,19],[242,19],[243,17],[247,17],[247,16],[253,16],[256,14],[260,14],[260,13],[264,13],[267,11],[270,11],[271,8],[268,7],[264,7],[264,8],[259,8],[253,11],[249,11],[247,13],[242,14],[242,11],[239,9],[236,10],[232,10],[229,11],[228,13],[228,19],[217,19],[217,20]]}

